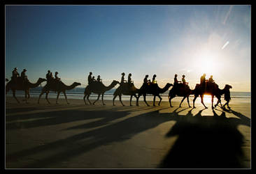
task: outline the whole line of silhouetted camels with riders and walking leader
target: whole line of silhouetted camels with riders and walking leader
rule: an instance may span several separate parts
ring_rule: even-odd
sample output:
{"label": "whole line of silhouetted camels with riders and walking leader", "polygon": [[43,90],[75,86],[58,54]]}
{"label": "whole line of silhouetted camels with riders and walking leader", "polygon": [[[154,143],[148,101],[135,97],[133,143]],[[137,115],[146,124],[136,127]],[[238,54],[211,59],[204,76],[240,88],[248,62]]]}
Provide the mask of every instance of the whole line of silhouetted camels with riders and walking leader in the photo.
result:
{"label": "whole line of silhouetted camels with riders and walking leader", "polygon": [[[76,86],[80,86],[81,84],[78,82],[73,82],[73,84],[71,84],[70,86],[67,86],[66,84],[64,84],[59,77],[57,77],[58,72],[55,72],[55,78],[52,77],[52,72],[50,72],[50,70],[48,70],[48,74],[46,74],[46,79],[43,78],[39,78],[38,81],[36,81],[36,83],[31,83],[28,79],[27,76],[25,75],[25,72],[27,70],[23,70],[21,73],[21,76],[19,73],[17,73],[17,68],[15,68],[13,70],[13,77],[11,77],[10,81],[8,79],[6,79],[6,94],[8,93],[9,90],[13,91],[13,97],[15,98],[15,100],[19,102],[19,100],[17,100],[17,97],[15,97],[15,91],[16,90],[24,90],[25,93],[25,102],[27,103],[27,100],[29,99],[29,89],[30,88],[36,88],[39,85],[41,85],[41,83],[43,81],[47,81],[45,86],[43,86],[41,93],[38,97],[38,104],[39,101],[41,99],[41,96],[45,93],[45,99],[47,100],[47,102],[50,104],[49,100],[48,100],[48,93],[50,93],[50,91],[53,91],[55,93],[57,93],[57,99],[56,99],[56,104],[58,104],[58,98],[59,98],[59,94],[63,93],[65,96],[65,100],[66,103],[69,104],[67,97],[66,97],[66,90],[71,90],[73,88],[76,88]],[[152,81],[148,80],[148,75],[145,76],[144,80],[143,80],[143,85],[141,86],[141,88],[136,88],[134,86],[134,82],[131,81],[131,74],[129,74],[128,76],[128,80],[125,80],[125,73],[122,73],[122,78],[121,81],[116,81],[113,80],[112,83],[109,86],[105,86],[102,83],[102,79],[100,79],[100,76],[98,76],[97,79],[94,79],[94,77],[92,77],[92,72],[90,72],[89,76],[88,76],[88,85],[85,87],[85,92],[84,92],[84,97],[83,100],[85,102],[85,104],[87,104],[86,100],[90,103],[90,104],[95,104],[98,100],[99,97],[101,96],[101,101],[102,104],[104,104],[104,93],[108,90],[111,90],[112,88],[114,88],[116,85],[119,84],[118,88],[115,89],[115,92],[113,93],[113,106],[115,106],[115,98],[119,97],[120,103],[122,104],[122,106],[125,106],[125,104],[123,104],[122,102],[122,95],[129,95],[130,96],[130,100],[129,100],[129,104],[130,106],[132,106],[131,101],[132,101],[132,97],[136,98],[136,106],[138,106],[138,99],[139,97],[141,97],[141,95],[143,95],[143,101],[145,102],[145,104],[147,106],[150,106],[148,104],[148,102],[146,101],[146,95],[150,94],[153,95],[153,106],[155,106],[155,97],[159,97],[159,102],[158,105],[160,105],[161,101],[162,101],[162,97],[160,96],[161,93],[165,93],[167,90],[169,90],[169,88],[172,86],[171,90],[169,90],[169,104],[171,107],[171,99],[173,99],[173,97],[179,96],[179,97],[183,97],[183,99],[180,102],[180,107],[181,104],[183,103],[183,100],[185,100],[185,98],[187,98],[187,104],[189,107],[190,106],[190,101],[189,101],[189,96],[190,95],[194,95],[194,100],[193,100],[193,107],[194,106],[194,102],[196,101],[197,97],[201,97],[201,104],[204,105],[204,107],[207,109],[207,106],[204,104],[204,95],[211,95],[211,106],[212,109],[215,108],[216,106],[218,106],[218,104],[220,104],[220,106],[222,107],[221,104],[221,96],[225,95],[225,100],[227,101],[225,105],[227,105],[227,107],[230,109],[229,107],[229,100],[230,100],[230,91],[229,89],[232,88],[232,86],[226,84],[225,88],[220,89],[218,87],[218,84],[215,84],[215,82],[212,79],[212,76],[209,80],[205,79],[206,74],[204,74],[201,77],[201,82],[200,84],[197,84],[194,88],[194,90],[190,89],[190,86],[188,86],[187,82],[185,82],[185,75],[183,75],[183,79],[182,81],[178,81],[177,80],[177,74],[175,74],[175,78],[174,78],[174,83],[170,84],[167,83],[164,88],[160,88],[157,84],[157,81],[155,80],[156,75],[153,76]],[[181,82],[181,83],[179,83]],[[90,102],[90,94],[91,93],[95,93],[98,95],[97,100],[95,100],[93,103]],[[218,102],[217,104],[215,104],[213,106],[213,97],[217,97]],[[225,106],[223,105],[223,106]]]}

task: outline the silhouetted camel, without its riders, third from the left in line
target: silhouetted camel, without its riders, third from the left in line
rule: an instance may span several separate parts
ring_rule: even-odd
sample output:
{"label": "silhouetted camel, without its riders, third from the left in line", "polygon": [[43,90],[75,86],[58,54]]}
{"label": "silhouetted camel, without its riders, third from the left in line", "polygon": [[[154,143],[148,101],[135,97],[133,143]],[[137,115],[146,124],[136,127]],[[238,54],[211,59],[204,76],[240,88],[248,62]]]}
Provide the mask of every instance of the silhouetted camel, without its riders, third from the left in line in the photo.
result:
{"label": "silhouetted camel, without its riders, third from the left in line", "polygon": [[[85,88],[85,96],[83,97],[83,100],[85,101],[85,97],[87,96],[87,100],[90,102],[89,97],[91,93],[97,93],[98,94],[98,98],[97,100],[95,100],[93,102],[93,104],[95,104],[95,102],[97,102],[99,100],[99,97],[101,96],[101,100],[102,100],[102,104],[104,104],[104,93],[107,90],[111,90],[112,88],[114,88],[117,84],[119,84],[119,81],[112,81],[112,83],[109,86],[105,86],[104,84],[102,84],[101,82],[98,81],[94,81],[92,82],[92,84],[86,86]],[[85,102],[85,104],[87,104]],[[92,104],[90,102],[90,104]]]}

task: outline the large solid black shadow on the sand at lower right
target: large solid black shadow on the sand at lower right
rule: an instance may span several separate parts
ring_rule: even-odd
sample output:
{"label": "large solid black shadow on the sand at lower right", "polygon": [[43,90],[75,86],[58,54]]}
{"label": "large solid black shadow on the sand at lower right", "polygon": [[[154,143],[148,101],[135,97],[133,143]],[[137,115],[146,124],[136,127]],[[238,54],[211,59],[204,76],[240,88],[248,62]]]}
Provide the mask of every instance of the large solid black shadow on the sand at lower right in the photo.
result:
{"label": "large solid black shadow on the sand at lower right", "polygon": [[237,127],[241,124],[250,126],[250,119],[245,120],[246,116],[234,111],[241,120],[226,118],[224,111],[220,116],[214,110],[214,116],[202,116],[203,110],[193,116],[191,109],[187,115],[177,119],[166,137],[178,136],[178,139],[159,168],[245,167],[241,161],[243,135]]}

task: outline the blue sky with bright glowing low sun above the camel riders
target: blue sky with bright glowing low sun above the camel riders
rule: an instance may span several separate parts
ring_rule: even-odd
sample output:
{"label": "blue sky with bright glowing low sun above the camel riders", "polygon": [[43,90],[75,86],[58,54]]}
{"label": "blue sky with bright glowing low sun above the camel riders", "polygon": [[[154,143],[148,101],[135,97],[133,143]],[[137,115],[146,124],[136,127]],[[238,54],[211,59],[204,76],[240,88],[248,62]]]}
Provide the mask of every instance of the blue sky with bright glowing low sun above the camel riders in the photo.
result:
{"label": "blue sky with bright glowing low sun above the camel riders", "polygon": [[[92,72],[108,86],[131,73],[136,88],[154,74],[161,88],[174,74],[194,89],[213,75],[220,88],[250,92],[251,7],[6,6],[6,78],[29,81],[59,72],[87,86]],[[45,83],[45,82],[43,82]]]}

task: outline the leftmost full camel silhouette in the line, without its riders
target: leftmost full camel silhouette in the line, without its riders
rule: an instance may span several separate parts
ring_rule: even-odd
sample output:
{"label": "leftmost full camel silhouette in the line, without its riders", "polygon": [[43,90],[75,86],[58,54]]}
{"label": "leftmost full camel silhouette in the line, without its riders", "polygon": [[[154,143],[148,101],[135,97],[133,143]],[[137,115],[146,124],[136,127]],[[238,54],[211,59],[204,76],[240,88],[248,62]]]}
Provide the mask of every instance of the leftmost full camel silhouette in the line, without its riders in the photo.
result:
{"label": "leftmost full camel silhouette in the line, without its riders", "polygon": [[26,103],[27,100],[29,99],[30,95],[29,95],[29,89],[30,88],[36,88],[37,86],[39,86],[43,81],[46,81],[46,79],[43,78],[39,78],[35,84],[32,84],[29,80],[28,81],[23,81],[23,79],[21,77],[18,77],[16,82],[13,81],[13,79],[11,79],[7,84],[6,84],[6,94],[8,93],[9,90],[13,90],[13,97],[15,98],[15,100],[19,102],[19,100],[17,100],[16,96],[15,96],[15,91],[16,90],[24,90],[25,92],[25,101]]}

